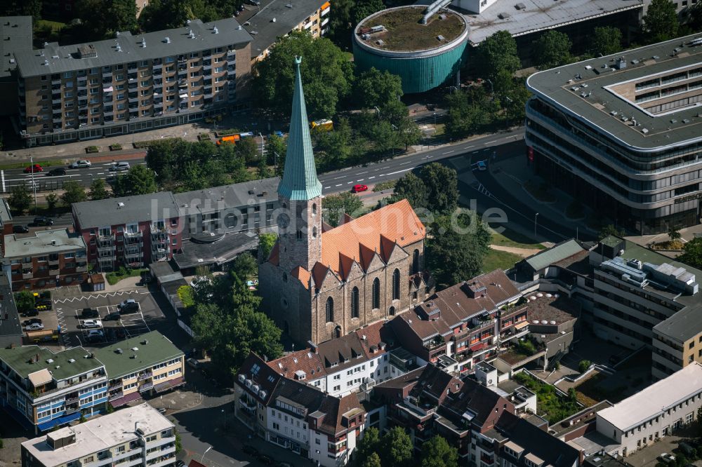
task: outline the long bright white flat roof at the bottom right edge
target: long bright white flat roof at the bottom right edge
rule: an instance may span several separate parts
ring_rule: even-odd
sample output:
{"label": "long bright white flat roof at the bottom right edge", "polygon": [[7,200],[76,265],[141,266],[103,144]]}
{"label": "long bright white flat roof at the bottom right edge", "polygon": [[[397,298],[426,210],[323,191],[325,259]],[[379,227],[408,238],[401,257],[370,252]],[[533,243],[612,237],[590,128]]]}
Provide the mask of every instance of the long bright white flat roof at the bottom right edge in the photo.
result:
{"label": "long bright white flat roof at the bottom right edge", "polygon": [[622,400],[614,407],[600,410],[597,417],[609,421],[621,431],[627,431],[701,392],[702,365],[694,362]]}

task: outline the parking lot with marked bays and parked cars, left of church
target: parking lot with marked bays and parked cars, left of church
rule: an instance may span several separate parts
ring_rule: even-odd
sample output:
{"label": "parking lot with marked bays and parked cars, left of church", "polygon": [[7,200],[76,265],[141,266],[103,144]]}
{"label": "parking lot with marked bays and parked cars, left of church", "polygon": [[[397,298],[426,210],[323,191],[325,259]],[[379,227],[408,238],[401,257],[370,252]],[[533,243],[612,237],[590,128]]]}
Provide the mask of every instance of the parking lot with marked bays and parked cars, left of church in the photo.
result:
{"label": "parking lot with marked bays and parked cars, left of church", "polygon": [[[138,310],[120,314],[117,305],[127,299],[138,303]],[[61,327],[65,346],[100,346],[150,332],[165,316],[147,290],[77,294],[55,297],[53,306]],[[84,309],[96,311],[97,316],[84,317]],[[84,320],[99,320],[88,327]],[[102,332],[96,332],[102,331]],[[95,334],[88,337],[89,334]]]}

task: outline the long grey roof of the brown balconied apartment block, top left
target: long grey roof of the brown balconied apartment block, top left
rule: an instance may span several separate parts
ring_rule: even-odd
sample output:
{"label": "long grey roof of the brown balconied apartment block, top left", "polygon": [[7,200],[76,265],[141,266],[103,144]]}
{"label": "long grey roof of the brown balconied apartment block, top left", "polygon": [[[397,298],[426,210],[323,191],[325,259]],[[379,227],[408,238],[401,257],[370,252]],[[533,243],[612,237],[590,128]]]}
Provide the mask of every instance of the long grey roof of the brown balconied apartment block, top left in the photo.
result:
{"label": "long grey roof of the brown balconied apartment block, top left", "polygon": [[[249,43],[251,41],[249,33],[243,28],[237,29],[238,27],[239,22],[234,18],[208,23],[192,20],[184,27],[147,32],[136,36],[132,36],[130,32],[118,32],[116,39],[106,41],[72,46],[59,46],[56,42],[47,43],[42,50],[16,54],[15,58],[20,74],[25,77],[70,72]],[[195,35],[194,39],[189,37],[190,30]],[[166,43],[166,37],[170,39],[169,43]],[[141,46],[142,39],[145,40],[145,47]],[[121,51],[117,51],[118,43]],[[84,45],[93,46],[97,57],[79,58],[78,49]],[[44,60],[48,65],[45,65]]]}

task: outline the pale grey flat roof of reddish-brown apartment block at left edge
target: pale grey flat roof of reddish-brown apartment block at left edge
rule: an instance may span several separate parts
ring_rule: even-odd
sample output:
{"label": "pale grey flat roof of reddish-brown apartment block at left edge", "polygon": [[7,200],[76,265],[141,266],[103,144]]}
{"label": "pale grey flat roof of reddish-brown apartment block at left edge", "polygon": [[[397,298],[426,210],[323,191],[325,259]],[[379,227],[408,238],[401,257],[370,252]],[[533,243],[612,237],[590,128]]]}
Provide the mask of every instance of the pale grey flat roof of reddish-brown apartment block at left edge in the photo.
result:
{"label": "pale grey flat roof of reddish-brown apartment block at left edge", "polygon": [[85,248],[83,237],[69,232],[68,229],[39,230],[32,234],[6,235],[3,256],[18,258],[49,255]]}

